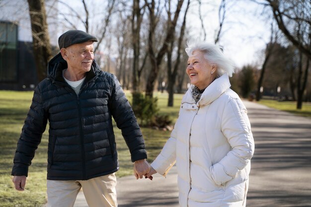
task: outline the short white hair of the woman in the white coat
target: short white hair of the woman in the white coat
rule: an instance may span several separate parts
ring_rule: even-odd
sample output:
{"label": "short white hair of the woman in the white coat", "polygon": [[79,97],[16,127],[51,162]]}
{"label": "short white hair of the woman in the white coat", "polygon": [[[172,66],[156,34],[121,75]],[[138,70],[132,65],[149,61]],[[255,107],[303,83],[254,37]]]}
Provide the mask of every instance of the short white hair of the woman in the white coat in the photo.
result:
{"label": "short white hair of the woman in the white coat", "polygon": [[217,65],[217,74],[222,76],[227,73],[232,77],[234,72],[233,62],[224,56],[219,46],[205,42],[187,42],[186,53],[190,57],[194,51],[200,51],[204,54],[204,58],[212,64]]}

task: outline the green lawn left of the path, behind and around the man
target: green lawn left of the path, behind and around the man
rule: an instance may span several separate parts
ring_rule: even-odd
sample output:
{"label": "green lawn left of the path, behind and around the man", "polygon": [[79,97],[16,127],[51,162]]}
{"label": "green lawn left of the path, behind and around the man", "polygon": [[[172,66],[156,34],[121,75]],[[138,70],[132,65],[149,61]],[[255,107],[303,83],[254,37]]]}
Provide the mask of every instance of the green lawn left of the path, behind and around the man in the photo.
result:
{"label": "green lawn left of the path, behind and around the man", "polygon": [[[0,204],[1,207],[41,207],[46,203],[46,167],[48,129],[36,151],[29,167],[25,191],[14,189],[10,176],[17,140],[20,136],[24,119],[31,104],[33,92],[0,91]],[[130,94],[127,93],[130,100]],[[160,114],[168,114],[175,122],[178,116],[182,95],[176,94],[174,107],[167,107],[167,94],[155,93],[158,97]],[[148,161],[155,159],[160,152],[170,132],[142,128],[148,152]],[[133,174],[133,163],[130,152],[121,136],[121,131],[115,128],[117,151],[120,170],[117,177]],[[133,179],[134,175],[133,175]]]}

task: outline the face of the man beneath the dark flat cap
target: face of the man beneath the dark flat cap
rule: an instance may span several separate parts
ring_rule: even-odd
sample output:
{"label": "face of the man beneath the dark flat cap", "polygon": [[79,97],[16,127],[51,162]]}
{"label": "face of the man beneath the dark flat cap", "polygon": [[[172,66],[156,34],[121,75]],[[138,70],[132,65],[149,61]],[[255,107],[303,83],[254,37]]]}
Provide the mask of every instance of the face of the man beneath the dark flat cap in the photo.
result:
{"label": "face of the man beneath the dark flat cap", "polygon": [[88,72],[94,60],[93,42],[88,41],[74,44],[61,50],[63,58],[67,61],[68,69],[76,74]]}

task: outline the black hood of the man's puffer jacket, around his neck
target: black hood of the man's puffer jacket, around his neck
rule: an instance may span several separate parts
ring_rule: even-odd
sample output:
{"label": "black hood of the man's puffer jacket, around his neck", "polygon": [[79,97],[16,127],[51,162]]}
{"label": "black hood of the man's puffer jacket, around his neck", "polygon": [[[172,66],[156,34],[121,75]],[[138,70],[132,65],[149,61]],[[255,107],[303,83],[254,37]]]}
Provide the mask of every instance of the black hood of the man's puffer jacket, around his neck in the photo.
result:
{"label": "black hood of the man's puffer jacket, around his neck", "polygon": [[[59,53],[54,58],[52,58],[48,63],[48,78],[52,80],[63,80],[62,70],[67,69],[67,62],[63,59],[62,54]],[[93,60],[92,66],[89,72],[87,72],[86,77],[96,76],[99,74],[101,69]]]}

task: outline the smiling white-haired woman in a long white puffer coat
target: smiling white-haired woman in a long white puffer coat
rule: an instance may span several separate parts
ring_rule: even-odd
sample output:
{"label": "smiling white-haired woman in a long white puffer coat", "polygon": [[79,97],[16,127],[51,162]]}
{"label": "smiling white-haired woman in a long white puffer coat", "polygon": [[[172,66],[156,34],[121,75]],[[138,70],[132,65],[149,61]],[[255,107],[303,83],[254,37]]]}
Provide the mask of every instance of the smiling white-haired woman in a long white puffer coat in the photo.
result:
{"label": "smiling white-haired woman in a long white puffer coat", "polygon": [[230,89],[233,66],[216,45],[188,46],[184,95],[171,137],[146,178],[176,161],[181,207],[245,207],[254,140],[247,111]]}

